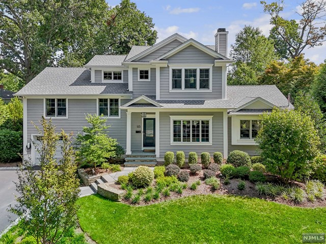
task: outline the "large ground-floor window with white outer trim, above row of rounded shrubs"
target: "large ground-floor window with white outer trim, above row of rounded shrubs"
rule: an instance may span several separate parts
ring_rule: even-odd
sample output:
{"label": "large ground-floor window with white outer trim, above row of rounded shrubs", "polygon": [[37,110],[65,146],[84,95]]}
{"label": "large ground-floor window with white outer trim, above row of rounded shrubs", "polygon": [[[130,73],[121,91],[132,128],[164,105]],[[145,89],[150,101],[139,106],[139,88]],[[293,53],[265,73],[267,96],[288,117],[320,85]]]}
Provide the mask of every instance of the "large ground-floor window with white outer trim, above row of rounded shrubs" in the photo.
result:
{"label": "large ground-floor window with white outer trim, above row of rounded shrubs", "polygon": [[212,116],[170,116],[171,144],[211,144]]}

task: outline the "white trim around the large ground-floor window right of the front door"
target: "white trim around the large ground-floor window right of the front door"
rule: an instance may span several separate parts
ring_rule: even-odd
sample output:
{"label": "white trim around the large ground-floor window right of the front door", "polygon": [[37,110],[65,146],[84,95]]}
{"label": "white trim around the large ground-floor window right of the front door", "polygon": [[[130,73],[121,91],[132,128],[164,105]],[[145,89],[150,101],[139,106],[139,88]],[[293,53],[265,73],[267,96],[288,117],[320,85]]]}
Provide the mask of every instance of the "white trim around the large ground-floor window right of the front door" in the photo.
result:
{"label": "white trim around the large ground-floor window right of the front door", "polygon": [[[212,145],[212,135],[213,135],[213,128],[212,128],[212,118],[213,115],[200,115],[200,116],[192,116],[192,115],[184,115],[184,116],[175,116],[170,115],[170,144],[171,145],[194,145],[194,146],[200,146],[200,145],[206,145],[211,146]],[[174,120],[209,120],[209,142],[175,142],[173,141],[173,121]],[[192,126],[192,125],[191,125]],[[200,132],[201,134],[201,132]],[[192,137],[192,133],[191,133]],[[182,140],[182,127],[181,127],[181,140]]]}

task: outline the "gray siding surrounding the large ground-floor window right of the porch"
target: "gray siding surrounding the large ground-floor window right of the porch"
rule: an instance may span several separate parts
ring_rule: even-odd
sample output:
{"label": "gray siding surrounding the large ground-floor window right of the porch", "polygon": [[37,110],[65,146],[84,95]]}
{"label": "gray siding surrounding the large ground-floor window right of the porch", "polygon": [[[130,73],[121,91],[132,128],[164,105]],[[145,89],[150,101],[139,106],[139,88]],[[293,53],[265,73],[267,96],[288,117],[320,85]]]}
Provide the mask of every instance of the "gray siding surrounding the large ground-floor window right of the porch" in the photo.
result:
{"label": "gray siding surrounding the large ground-floor window right of the porch", "polygon": [[[171,121],[170,115],[213,115],[212,118],[212,145],[171,145]],[[189,151],[196,151],[198,156],[204,151],[208,151],[211,157],[215,151],[223,153],[223,112],[161,112],[159,114],[159,150],[160,158],[164,158],[164,154],[167,151],[184,151],[186,158]]]}

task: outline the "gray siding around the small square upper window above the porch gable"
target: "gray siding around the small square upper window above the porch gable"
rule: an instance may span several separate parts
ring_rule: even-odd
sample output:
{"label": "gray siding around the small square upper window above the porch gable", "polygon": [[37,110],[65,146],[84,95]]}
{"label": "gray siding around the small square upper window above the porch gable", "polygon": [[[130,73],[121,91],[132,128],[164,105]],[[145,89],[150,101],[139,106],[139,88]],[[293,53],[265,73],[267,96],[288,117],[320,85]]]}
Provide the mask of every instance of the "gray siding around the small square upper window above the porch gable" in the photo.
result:
{"label": "gray siding around the small square upper window above the porch gable", "polygon": [[138,81],[138,68],[132,68],[132,98],[156,95],[156,69],[151,68],[150,81]]}

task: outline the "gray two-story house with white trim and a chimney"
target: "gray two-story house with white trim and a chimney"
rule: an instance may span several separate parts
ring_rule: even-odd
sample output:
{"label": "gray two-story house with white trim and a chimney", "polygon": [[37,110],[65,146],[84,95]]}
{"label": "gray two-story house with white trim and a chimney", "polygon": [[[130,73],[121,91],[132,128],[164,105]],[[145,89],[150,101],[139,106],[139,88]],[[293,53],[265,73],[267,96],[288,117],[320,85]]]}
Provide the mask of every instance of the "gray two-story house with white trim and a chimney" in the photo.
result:
{"label": "gray two-story house with white trim and a chimney", "polygon": [[292,105],[274,85],[227,86],[227,40],[225,29],[214,46],[174,34],[153,46],[133,46],[127,55],[95,55],[84,68],[44,69],[16,93],[23,99],[23,154],[37,161],[31,121],[52,118],[58,131],[76,134],[87,126],[88,113],[107,119],[108,134],[126,155],[257,154],[259,114]]}

